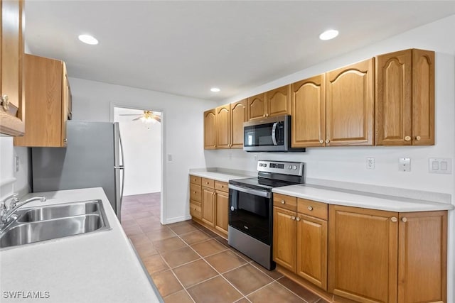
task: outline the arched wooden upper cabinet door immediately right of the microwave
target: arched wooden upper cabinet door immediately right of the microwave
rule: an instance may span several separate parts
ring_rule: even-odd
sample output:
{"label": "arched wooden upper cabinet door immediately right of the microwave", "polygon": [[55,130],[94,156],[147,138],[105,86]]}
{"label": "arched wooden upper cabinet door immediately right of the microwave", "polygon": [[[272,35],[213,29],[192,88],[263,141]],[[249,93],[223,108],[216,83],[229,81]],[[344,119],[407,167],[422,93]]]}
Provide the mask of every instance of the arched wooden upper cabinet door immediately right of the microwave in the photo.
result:
{"label": "arched wooden upper cabinet door immediately right of the microwave", "polygon": [[326,75],[291,84],[291,146],[323,146],[326,140]]}

